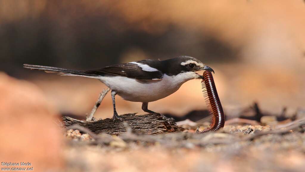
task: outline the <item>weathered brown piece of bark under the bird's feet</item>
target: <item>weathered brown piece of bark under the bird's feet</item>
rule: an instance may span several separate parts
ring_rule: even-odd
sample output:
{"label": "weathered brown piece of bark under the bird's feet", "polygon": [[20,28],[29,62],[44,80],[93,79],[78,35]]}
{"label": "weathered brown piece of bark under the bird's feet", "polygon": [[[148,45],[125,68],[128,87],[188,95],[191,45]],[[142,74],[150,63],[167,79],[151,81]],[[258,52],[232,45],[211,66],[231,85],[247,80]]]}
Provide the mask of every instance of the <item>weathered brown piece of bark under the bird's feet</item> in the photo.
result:
{"label": "weathered brown piece of bark under the bird's feet", "polygon": [[129,127],[139,133],[157,134],[164,132],[175,132],[181,130],[173,118],[167,118],[159,113],[146,115],[125,114],[121,115],[124,121],[115,121],[113,119],[101,119],[97,121],[84,121],[64,116],[62,118],[65,127],[78,124],[88,128],[95,134],[120,134],[126,131],[126,123]]}

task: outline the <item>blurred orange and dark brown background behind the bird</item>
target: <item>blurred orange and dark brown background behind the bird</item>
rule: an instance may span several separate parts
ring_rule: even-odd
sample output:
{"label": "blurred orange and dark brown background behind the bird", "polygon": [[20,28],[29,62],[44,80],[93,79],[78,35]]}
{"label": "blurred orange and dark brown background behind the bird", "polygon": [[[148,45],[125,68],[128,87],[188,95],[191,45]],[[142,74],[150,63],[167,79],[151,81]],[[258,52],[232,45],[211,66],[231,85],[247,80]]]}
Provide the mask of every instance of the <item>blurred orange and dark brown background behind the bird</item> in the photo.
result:
{"label": "blurred orange and dark brown background behind the bird", "polygon": [[[61,114],[83,116],[106,88],[95,79],[22,68],[37,64],[90,70],[142,59],[196,57],[214,69],[224,110],[281,112],[304,107],[303,0],[0,1],[0,70],[34,82]],[[199,80],[149,103],[160,113],[206,109]],[[117,96],[119,114],[141,103]],[[108,94],[96,113],[112,117]]]}

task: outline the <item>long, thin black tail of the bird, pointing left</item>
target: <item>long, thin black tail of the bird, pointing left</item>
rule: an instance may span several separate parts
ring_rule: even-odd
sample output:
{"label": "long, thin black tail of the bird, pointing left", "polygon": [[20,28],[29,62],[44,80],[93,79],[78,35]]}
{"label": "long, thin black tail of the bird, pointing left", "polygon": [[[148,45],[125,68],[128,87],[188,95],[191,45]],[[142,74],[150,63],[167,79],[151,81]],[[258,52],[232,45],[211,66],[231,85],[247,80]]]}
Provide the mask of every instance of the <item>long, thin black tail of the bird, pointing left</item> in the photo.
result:
{"label": "long, thin black tail of the bird, pointing left", "polygon": [[85,71],[71,70],[71,69],[63,69],[63,68],[55,68],[49,66],[39,66],[39,65],[31,65],[31,64],[23,64],[23,68],[29,68],[34,70],[45,71],[47,73],[56,73],[58,72],[60,75],[70,75],[70,76],[84,76],[90,78],[99,78],[99,75],[90,74]]}

